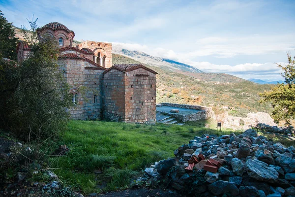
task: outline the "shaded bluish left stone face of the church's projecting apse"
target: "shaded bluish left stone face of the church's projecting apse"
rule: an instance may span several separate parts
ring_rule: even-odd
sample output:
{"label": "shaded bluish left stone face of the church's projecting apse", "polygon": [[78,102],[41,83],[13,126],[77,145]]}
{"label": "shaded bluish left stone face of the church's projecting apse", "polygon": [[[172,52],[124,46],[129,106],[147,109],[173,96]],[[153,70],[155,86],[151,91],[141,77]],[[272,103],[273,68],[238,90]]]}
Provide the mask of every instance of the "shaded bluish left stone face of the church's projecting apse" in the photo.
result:
{"label": "shaded bluish left stone face of the church's projecting apse", "polygon": [[112,69],[103,77],[103,113],[111,121],[124,121],[124,73]]}

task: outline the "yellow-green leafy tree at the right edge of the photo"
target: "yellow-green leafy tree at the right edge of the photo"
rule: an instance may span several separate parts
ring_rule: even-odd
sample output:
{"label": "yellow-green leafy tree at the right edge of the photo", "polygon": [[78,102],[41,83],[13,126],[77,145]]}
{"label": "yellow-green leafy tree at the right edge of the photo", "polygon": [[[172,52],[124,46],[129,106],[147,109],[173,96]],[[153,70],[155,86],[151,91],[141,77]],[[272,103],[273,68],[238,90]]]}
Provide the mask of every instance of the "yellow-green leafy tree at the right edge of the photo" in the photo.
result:
{"label": "yellow-green leafy tree at the right edge of the photo", "polygon": [[285,125],[290,125],[290,120],[295,119],[295,57],[288,56],[288,65],[278,64],[283,69],[282,76],[285,83],[278,83],[270,91],[261,93],[261,102],[270,102],[273,107],[272,116],[276,123],[284,120]]}

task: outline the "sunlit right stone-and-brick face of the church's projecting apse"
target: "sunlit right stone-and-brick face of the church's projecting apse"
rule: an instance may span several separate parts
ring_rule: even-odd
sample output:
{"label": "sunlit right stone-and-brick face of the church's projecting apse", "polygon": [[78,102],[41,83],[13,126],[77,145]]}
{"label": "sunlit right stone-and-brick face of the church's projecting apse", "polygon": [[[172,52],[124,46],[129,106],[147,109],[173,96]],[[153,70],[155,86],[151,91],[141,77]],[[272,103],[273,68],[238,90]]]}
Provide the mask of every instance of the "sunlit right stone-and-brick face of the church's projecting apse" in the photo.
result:
{"label": "sunlit right stone-and-brick face of the church's projecting apse", "polygon": [[139,68],[125,73],[125,122],[155,123],[156,77]]}

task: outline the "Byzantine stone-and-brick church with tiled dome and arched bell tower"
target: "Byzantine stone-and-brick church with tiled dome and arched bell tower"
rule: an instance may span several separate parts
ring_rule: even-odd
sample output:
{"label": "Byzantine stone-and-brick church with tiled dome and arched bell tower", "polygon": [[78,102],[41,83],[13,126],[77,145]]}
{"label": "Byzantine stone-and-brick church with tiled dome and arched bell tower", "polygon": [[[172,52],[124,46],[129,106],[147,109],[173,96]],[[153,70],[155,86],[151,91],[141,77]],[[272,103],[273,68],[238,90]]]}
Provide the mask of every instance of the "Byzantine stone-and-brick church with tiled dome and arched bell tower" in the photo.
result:
{"label": "Byzantine stone-and-brick church with tiled dome and arched bell tower", "polygon": [[[39,28],[37,34],[39,40],[52,36],[59,43],[58,65],[71,87],[72,119],[156,121],[155,71],[143,65],[112,65],[111,43],[87,40],[74,47],[75,33],[57,22]],[[28,44],[19,42],[17,52],[18,62],[24,61]]]}

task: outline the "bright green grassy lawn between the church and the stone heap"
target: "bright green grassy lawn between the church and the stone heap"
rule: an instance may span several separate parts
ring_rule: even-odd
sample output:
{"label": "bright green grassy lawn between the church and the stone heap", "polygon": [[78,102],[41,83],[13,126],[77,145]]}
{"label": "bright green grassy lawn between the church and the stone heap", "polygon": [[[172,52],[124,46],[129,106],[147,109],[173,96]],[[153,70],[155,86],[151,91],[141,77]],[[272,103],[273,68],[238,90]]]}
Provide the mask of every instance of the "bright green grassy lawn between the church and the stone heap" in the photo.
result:
{"label": "bright green grassy lawn between the church and the stone heap", "polygon": [[[196,135],[217,133],[202,127],[205,123],[155,126],[103,121],[70,121],[68,130],[55,146],[70,148],[66,156],[52,158],[51,167],[65,183],[85,194],[125,188],[146,166],[169,157]],[[229,134],[222,131],[218,134]],[[102,170],[95,174],[94,170]]]}

